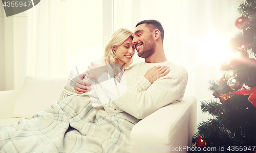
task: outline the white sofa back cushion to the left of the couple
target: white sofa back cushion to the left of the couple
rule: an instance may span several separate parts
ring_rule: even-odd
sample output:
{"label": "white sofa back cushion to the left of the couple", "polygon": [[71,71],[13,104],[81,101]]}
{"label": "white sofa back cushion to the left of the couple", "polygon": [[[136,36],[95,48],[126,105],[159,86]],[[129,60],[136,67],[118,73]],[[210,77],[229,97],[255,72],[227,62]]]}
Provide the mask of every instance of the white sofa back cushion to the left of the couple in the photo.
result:
{"label": "white sofa back cushion to the left of the couple", "polygon": [[13,117],[31,118],[58,101],[68,79],[27,76],[15,102]]}

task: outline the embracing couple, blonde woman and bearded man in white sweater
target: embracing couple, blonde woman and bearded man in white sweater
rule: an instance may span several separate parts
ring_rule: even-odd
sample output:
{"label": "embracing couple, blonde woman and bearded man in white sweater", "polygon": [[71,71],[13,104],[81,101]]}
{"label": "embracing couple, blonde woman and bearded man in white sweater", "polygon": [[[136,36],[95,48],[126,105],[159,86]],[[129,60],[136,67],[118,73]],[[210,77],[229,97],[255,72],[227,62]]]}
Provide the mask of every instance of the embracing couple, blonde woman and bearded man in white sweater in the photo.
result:
{"label": "embracing couple, blonde woman and bearded man in white sweater", "polygon": [[[137,119],[169,103],[181,101],[187,72],[166,59],[163,39],[164,30],[157,20],[140,21],[134,33],[126,29],[115,31],[105,47],[104,59],[99,62],[102,64],[92,62],[90,70],[76,78],[75,92],[78,95],[94,93],[98,89],[95,84],[99,83],[101,93],[109,97],[106,101],[101,100],[103,110],[126,112]],[[135,50],[145,62],[130,67]]]}

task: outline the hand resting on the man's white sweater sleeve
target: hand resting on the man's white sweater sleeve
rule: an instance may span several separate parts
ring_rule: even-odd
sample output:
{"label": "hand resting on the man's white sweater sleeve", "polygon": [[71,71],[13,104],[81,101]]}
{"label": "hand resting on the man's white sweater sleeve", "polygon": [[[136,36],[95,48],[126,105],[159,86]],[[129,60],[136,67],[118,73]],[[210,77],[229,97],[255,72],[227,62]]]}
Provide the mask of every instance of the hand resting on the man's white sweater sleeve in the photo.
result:
{"label": "hand resting on the man's white sweater sleeve", "polygon": [[150,81],[151,83],[155,82],[157,79],[165,76],[166,74],[168,74],[170,72],[170,67],[167,66],[157,66],[157,67],[153,67],[151,69],[148,69],[146,71],[146,74],[144,75],[144,77]]}

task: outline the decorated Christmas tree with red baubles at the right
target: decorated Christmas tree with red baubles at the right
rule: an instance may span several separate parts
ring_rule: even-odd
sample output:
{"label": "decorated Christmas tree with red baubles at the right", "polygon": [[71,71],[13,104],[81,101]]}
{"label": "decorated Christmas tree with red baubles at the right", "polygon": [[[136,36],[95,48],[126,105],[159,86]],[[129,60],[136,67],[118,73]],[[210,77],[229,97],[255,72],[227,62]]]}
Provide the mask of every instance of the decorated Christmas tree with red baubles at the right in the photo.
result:
{"label": "decorated Christmas tree with red baubles at the right", "polygon": [[256,57],[256,1],[244,1],[238,11],[233,55],[221,64],[223,77],[210,81],[216,100],[201,102],[213,117],[199,123],[189,152],[256,152],[256,60],[249,58]]}

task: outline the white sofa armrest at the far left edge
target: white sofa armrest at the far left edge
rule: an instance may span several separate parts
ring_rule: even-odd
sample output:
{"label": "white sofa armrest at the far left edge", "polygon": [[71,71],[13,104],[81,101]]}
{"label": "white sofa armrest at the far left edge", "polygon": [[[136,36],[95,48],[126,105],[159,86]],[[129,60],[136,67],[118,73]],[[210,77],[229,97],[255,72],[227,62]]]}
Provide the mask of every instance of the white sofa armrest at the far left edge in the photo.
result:
{"label": "white sofa armrest at the far left edge", "polygon": [[19,90],[0,91],[0,119],[12,118]]}

